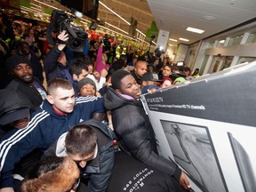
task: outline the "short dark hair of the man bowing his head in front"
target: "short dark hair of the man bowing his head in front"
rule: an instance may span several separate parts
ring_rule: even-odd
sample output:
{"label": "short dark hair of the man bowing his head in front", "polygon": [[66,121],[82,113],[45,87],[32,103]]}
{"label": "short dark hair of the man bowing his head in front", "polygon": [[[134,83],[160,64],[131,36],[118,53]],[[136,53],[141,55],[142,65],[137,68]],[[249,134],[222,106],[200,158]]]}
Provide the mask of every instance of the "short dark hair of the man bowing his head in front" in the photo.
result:
{"label": "short dark hair of the man bowing his head in front", "polygon": [[69,130],[65,148],[72,155],[88,156],[92,154],[96,148],[97,135],[88,124],[77,124]]}

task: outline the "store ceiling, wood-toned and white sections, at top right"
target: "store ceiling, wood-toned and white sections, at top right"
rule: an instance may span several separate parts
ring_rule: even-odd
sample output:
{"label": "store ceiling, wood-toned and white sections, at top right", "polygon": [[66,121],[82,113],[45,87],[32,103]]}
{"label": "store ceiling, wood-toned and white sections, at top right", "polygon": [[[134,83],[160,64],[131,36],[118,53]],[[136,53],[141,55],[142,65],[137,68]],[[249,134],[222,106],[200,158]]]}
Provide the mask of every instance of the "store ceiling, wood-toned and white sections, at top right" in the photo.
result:
{"label": "store ceiling, wood-toned and white sections, at top right", "polygon": [[[100,2],[129,22],[131,17],[138,20],[137,28],[143,33],[150,28],[152,20],[156,20],[158,29],[170,31],[170,38],[189,39],[187,43],[178,40],[176,43],[169,41],[169,44],[193,44],[200,39],[256,18],[255,0],[100,0]],[[129,30],[129,26],[124,21],[102,5],[99,8],[100,20],[107,20],[116,27]],[[188,27],[203,29],[204,33],[188,32],[186,30]]]}

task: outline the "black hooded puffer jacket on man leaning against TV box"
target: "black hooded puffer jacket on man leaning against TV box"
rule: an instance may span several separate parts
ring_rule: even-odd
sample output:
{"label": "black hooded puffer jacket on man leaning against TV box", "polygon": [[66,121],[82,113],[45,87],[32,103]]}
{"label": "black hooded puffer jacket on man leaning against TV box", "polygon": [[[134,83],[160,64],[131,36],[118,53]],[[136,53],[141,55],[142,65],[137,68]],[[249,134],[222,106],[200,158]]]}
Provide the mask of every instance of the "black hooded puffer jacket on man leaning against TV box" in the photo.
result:
{"label": "black hooded puffer jacket on man leaning against TV box", "polygon": [[120,148],[140,162],[180,180],[181,170],[172,160],[159,156],[155,132],[140,100],[127,100],[112,87],[104,95],[104,105],[112,112],[112,122]]}

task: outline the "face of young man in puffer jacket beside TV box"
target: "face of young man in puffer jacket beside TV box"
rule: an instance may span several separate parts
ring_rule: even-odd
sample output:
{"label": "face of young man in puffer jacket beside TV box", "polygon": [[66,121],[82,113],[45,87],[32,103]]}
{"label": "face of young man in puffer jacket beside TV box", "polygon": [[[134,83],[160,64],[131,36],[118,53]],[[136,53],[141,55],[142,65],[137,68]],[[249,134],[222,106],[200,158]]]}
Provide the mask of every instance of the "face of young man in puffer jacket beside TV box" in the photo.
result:
{"label": "face of young man in puffer jacket beside TV box", "polygon": [[141,95],[140,86],[132,75],[124,76],[121,80],[120,93],[139,99]]}

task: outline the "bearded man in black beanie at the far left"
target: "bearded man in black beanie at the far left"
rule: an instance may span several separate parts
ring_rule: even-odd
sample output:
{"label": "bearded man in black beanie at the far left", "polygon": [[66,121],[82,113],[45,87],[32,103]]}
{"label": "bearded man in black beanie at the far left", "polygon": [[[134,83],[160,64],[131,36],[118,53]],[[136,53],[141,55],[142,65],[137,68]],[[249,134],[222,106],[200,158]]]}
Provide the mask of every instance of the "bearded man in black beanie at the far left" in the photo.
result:
{"label": "bearded man in black beanie at the far left", "polygon": [[12,55],[5,61],[5,66],[13,78],[6,88],[24,95],[32,103],[32,111],[36,110],[46,98],[46,91],[43,84],[33,77],[30,61],[23,56]]}

